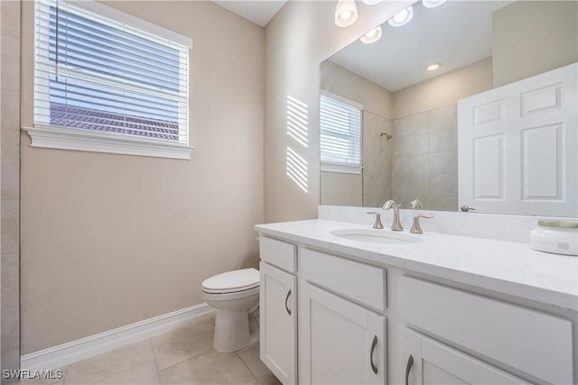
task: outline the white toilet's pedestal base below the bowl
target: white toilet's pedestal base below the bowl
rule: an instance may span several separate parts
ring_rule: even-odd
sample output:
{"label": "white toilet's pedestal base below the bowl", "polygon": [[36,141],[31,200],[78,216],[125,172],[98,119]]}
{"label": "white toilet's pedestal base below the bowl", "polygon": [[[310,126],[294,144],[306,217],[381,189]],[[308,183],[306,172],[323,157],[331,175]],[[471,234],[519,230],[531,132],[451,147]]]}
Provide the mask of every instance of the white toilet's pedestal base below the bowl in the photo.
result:
{"label": "white toilet's pedestal base below the bowl", "polygon": [[217,309],[213,348],[219,353],[233,353],[247,347],[249,343],[247,310]]}

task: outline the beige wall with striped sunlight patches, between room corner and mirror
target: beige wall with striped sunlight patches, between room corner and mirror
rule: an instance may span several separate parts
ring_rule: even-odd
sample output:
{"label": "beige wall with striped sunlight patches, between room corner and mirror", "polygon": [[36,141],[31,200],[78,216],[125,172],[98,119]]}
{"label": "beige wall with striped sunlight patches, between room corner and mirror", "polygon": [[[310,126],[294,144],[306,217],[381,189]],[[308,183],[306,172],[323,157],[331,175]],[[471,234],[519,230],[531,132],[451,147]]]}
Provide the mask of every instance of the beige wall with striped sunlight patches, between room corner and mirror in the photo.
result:
{"label": "beige wall with striped sunlight patches, between room corner and mirror", "polygon": [[[314,218],[319,205],[319,87],[323,60],[344,48],[411,1],[358,4],[359,19],[349,28],[333,23],[334,2],[290,1],[266,25],[265,219],[266,222]],[[286,98],[308,108],[307,147],[286,133]],[[307,161],[307,192],[286,175],[286,148]]]}

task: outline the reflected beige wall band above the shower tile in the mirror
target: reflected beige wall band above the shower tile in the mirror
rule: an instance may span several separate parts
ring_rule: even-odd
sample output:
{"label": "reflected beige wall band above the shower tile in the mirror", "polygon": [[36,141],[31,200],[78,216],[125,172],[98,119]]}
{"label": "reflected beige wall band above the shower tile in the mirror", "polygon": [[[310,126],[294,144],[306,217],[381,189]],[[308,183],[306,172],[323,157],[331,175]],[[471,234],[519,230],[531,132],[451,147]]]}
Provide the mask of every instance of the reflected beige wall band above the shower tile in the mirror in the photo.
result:
{"label": "reflected beige wall band above the shower tile in the mirror", "polygon": [[394,93],[395,119],[452,105],[491,87],[492,58],[486,58]]}

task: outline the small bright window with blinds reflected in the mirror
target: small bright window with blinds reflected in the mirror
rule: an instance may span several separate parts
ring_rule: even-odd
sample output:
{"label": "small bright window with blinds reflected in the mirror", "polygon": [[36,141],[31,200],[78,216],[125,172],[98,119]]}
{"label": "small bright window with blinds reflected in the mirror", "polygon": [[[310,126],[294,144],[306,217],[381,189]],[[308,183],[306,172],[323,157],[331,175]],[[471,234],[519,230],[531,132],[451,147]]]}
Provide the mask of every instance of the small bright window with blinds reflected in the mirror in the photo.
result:
{"label": "small bright window with blinds reflected in the mirror", "polygon": [[363,106],[329,92],[320,105],[322,171],[360,173]]}

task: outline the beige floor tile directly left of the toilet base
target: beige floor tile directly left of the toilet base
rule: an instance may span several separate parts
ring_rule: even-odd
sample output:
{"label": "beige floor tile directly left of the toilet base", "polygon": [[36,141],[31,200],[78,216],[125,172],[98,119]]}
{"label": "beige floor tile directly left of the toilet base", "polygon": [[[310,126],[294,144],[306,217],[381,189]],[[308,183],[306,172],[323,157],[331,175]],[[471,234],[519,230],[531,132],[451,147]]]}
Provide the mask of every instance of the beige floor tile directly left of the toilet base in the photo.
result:
{"label": "beige floor tile directly left of the toilet base", "polygon": [[151,338],[154,357],[160,371],[176,363],[210,352],[215,331],[213,318]]}

